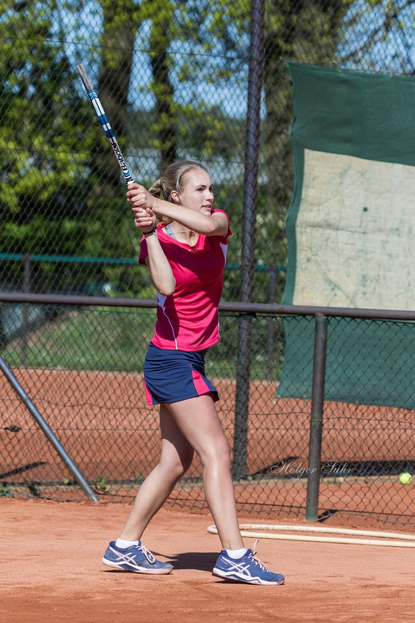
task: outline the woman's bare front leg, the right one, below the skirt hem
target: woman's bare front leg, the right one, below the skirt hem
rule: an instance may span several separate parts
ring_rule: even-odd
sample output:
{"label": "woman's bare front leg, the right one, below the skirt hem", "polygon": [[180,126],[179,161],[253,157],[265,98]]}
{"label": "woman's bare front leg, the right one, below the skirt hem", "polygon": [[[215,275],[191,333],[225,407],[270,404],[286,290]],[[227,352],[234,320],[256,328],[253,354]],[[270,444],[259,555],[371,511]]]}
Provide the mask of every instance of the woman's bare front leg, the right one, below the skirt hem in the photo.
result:
{"label": "woman's bare front leg, the right one, below the skirt hem", "polygon": [[230,473],[230,448],[212,398],[205,394],[166,406],[202,461],[205,498],[223,549],[243,548]]}

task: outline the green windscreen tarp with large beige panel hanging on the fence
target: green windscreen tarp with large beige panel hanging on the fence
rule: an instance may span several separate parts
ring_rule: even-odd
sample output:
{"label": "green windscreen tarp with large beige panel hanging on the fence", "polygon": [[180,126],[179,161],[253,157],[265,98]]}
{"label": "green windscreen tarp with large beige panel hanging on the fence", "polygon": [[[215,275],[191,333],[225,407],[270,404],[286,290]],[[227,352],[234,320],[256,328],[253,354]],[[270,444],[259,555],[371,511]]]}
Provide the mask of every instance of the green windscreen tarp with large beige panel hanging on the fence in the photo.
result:
{"label": "green windscreen tarp with large beige panel hanging on the fence", "polygon": [[[284,303],[415,309],[415,78],[287,62],[295,188]],[[280,396],[310,397],[314,323],[286,318]],[[415,323],[332,318],[325,397],[415,408]]]}

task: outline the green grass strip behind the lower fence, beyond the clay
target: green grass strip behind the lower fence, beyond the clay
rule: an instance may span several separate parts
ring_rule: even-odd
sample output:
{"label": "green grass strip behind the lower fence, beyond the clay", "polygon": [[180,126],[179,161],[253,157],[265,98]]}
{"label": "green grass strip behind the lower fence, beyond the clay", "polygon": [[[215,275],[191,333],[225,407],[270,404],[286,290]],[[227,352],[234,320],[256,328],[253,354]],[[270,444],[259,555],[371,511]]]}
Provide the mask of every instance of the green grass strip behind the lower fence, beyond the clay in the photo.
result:
{"label": "green grass strip behind the lower fence, beyond the clay", "polygon": [[[253,320],[252,380],[277,380],[281,375],[281,331],[275,332],[274,356],[270,363],[268,321],[267,318]],[[7,363],[16,368],[141,373],[155,323],[156,310],[153,309],[71,309],[26,336],[19,336],[2,350],[2,354]],[[236,378],[238,317],[221,316],[220,334],[221,340],[207,353],[207,376]]]}

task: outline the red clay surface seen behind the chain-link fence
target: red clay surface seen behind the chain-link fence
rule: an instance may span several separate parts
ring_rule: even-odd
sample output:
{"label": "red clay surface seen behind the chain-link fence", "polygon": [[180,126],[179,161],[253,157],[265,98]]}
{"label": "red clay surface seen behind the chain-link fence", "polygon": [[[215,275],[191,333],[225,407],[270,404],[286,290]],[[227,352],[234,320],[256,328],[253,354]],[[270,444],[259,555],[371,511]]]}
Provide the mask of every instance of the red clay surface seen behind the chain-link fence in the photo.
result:
{"label": "red clay surface seen behind the chain-link fence", "polygon": [[[157,464],[157,407],[146,406],[138,374],[18,369],[16,376],[88,480],[142,478]],[[217,403],[219,415],[232,446],[235,381],[221,379],[216,384],[221,395]],[[251,383],[247,472],[263,470],[264,478],[256,476],[253,482],[236,484],[241,510],[247,510],[248,505],[255,511],[273,511],[282,505],[288,509],[305,507],[306,478],[300,478],[300,472],[294,478],[274,478],[270,468],[287,457],[294,457],[288,468],[307,467],[310,401],[278,399],[276,390],[276,383]],[[12,472],[27,465],[30,467],[22,472],[26,482],[55,482],[70,477],[4,378],[0,379],[0,403],[4,406],[0,440],[6,448],[1,472],[11,473],[2,480],[12,481]],[[21,430],[9,429],[16,426]],[[414,426],[415,411],[326,402],[322,460],[338,461],[338,468],[347,460],[415,460]],[[187,476],[201,475],[200,461],[195,457]],[[397,475],[362,478],[351,472],[343,476],[345,482],[341,485],[331,482],[330,473],[322,478],[320,511],[390,514],[400,517],[403,525],[413,521],[415,478],[411,485],[404,486]],[[52,492],[49,495],[53,497]],[[58,498],[65,495],[72,495],[69,488]],[[135,492],[131,488],[124,495],[133,496]],[[197,484],[175,491],[174,497],[197,503],[198,508],[204,504]],[[75,495],[72,499],[76,498]]]}

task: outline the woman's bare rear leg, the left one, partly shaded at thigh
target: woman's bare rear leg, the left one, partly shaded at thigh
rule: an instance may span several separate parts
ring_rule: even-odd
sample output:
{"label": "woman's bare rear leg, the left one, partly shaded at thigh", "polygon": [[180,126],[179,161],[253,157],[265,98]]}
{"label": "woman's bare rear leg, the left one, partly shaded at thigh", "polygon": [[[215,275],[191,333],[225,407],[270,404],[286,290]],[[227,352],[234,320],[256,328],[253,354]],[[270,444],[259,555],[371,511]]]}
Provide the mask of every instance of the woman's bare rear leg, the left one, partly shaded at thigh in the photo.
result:
{"label": "woman's bare rear leg, the left one, partly shaded at thigh", "polygon": [[120,535],[126,541],[141,539],[147,524],[163,505],[174,485],[192,464],[194,450],[180,432],[174,417],[160,405],[162,450],[160,462],[142,483]]}

